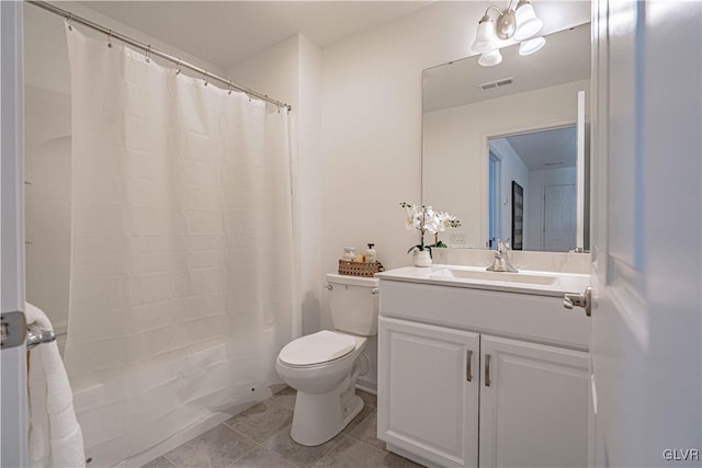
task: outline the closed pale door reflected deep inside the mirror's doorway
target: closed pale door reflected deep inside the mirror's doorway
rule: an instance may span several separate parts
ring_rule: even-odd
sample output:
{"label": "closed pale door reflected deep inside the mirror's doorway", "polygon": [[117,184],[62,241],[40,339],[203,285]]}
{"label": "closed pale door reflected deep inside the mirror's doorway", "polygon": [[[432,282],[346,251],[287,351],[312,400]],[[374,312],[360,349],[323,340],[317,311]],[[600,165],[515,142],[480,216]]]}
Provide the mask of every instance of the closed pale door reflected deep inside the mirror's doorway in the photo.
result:
{"label": "closed pale door reflected deep inside the mirror's doorway", "polygon": [[575,185],[544,187],[544,251],[567,252],[576,247]]}

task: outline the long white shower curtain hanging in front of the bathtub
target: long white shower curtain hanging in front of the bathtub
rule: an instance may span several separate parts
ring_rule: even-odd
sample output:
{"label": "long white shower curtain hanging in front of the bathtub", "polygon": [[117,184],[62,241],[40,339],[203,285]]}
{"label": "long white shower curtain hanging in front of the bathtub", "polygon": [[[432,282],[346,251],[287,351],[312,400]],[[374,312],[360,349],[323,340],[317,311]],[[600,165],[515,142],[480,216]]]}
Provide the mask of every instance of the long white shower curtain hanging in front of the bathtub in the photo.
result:
{"label": "long white shower curtain hanging in front of the bathtub", "polygon": [[298,335],[288,115],[77,27],[66,366],[93,466],[267,398]]}

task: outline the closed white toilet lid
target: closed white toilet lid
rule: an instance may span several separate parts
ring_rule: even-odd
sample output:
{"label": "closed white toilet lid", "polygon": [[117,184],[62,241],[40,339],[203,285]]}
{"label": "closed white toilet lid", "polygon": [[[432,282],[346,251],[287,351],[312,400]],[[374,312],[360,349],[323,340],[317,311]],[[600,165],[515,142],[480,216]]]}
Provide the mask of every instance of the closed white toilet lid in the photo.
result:
{"label": "closed white toilet lid", "polygon": [[322,330],[287,343],[279,357],[292,366],[309,366],[338,359],[354,349],[353,336]]}

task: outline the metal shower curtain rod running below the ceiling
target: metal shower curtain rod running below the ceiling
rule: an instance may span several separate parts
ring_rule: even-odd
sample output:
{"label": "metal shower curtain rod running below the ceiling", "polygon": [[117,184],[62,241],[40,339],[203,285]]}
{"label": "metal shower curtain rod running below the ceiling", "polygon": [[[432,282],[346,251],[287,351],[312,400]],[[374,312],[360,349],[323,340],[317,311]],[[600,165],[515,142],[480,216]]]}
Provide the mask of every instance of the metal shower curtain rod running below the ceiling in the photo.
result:
{"label": "metal shower curtain rod running below the ceiling", "polygon": [[205,80],[205,82],[207,80],[210,80],[210,79],[216,80],[216,81],[219,81],[219,82],[226,84],[228,90],[241,91],[241,92],[246,93],[249,96],[254,96],[257,99],[260,99],[261,101],[270,102],[271,104],[275,104],[279,107],[285,107],[285,109],[287,109],[287,111],[292,111],[293,110],[293,106],[290,105],[290,104],[286,104],[284,102],[278,101],[278,100],[275,100],[273,98],[269,98],[267,94],[261,94],[258,91],[253,91],[253,90],[251,90],[249,88],[246,88],[246,87],[242,87],[240,84],[236,84],[231,80],[227,80],[226,78],[222,78],[222,77],[219,77],[217,75],[211,73],[207,70],[202,69],[202,68],[200,68],[200,67],[197,67],[195,65],[189,64],[188,61],[181,60],[178,57],[173,57],[170,54],[167,54],[165,52],[158,50],[158,49],[151,47],[149,44],[144,44],[144,43],[139,42],[139,41],[133,39],[129,36],[125,36],[124,34],[120,34],[120,33],[117,33],[117,32],[115,32],[113,30],[110,30],[110,28],[104,27],[104,26],[102,26],[100,24],[93,23],[90,20],[86,20],[84,18],[77,16],[73,13],[71,13],[70,11],[63,10],[63,9],[60,9],[58,7],[55,7],[55,5],[53,5],[53,4],[50,4],[50,3],[46,2],[46,1],[43,1],[43,0],[27,0],[26,2],[30,3],[30,4],[33,4],[35,7],[38,7],[41,9],[44,9],[44,10],[50,12],[50,13],[57,14],[59,16],[64,16],[69,22],[69,25],[70,25],[71,22],[80,23],[80,24],[82,24],[84,26],[88,26],[88,27],[90,27],[92,30],[95,30],[95,31],[99,31],[99,32],[101,32],[103,34],[106,34],[109,37],[114,37],[115,39],[118,39],[118,41],[121,41],[121,42],[123,42],[125,44],[128,44],[128,45],[131,45],[133,47],[137,47],[137,48],[144,50],[145,53],[147,53],[149,55],[155,55],[157,57],[160,57],[160,58],[163,58],[163,59],[166,59],[168,61],[171,61],[171,62],[176,64],[178,67],[184,67],[184,68],[188,68],[188,69],[190,69],[192,71],[195,71],[195,72],[197,72],[197,73],[203,76],[203,79]]}

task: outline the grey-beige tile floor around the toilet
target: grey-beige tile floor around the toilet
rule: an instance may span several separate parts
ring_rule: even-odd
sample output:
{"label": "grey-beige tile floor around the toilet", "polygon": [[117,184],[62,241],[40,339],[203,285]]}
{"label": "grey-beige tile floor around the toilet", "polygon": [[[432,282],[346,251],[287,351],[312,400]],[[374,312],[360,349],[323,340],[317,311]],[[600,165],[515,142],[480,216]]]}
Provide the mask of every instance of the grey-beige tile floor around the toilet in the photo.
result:
{"label": "grey-beige tile floor around the toilet", "polygon": [[358,395],[365,401],[361,413],[320,446],[305,447],[291,438],[295,390],[285,387],[143,468],[421,467],[385,449],[376,438],[376,398],[361,390]]}

